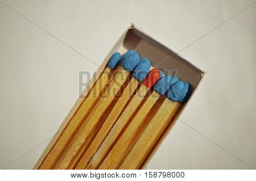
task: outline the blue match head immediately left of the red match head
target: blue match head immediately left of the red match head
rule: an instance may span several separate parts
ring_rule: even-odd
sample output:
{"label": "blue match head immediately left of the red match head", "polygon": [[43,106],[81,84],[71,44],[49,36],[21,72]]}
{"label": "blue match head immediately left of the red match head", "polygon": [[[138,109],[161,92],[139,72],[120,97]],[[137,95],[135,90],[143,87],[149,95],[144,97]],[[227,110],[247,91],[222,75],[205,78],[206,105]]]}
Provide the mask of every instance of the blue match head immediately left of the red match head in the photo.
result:
{"label": "blue match head immediately left of the red match head", "polygon": [[139,64],[133,70],[133,77],[138,81],[143,81],[150,70],[151,62],[147,58],[142,58]]}

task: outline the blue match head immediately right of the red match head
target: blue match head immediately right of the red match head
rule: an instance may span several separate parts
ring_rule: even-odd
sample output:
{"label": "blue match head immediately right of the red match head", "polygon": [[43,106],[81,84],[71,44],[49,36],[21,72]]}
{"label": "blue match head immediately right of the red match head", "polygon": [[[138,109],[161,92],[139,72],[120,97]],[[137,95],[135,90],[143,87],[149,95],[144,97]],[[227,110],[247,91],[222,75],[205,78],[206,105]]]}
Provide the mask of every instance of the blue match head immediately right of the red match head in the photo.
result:
{"label": "blue match head immediately right of the red match head", "polygon": [[154,90],[160,95],[164,95],[170,86],[176,81],[177,79],[171,75],[164,75],[155,83]]}

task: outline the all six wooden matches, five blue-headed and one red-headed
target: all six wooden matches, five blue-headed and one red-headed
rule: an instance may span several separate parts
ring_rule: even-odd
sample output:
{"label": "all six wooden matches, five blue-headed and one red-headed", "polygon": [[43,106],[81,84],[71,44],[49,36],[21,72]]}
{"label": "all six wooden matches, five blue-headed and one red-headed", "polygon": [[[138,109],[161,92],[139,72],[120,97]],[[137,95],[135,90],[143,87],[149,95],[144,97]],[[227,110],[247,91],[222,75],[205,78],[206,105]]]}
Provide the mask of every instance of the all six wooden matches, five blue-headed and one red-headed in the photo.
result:
{"label": "all six wooden matches, five blue-headed and one red-headed", "polygon": [[150,68],[133,49],[114,53],[39,169],[139,169],[189,95],[188,83]]}

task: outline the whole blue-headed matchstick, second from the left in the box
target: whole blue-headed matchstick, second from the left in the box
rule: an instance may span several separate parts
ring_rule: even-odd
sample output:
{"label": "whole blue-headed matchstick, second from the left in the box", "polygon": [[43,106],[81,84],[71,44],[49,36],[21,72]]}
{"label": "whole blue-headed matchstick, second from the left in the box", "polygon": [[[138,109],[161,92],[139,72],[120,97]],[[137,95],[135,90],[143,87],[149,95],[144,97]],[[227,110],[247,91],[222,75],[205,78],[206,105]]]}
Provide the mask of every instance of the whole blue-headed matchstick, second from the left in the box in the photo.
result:
{"label": "whole blue-headed matchstick, second from the left in the box", "polygon": [[72,158],[77,154],[77,151],[79,151],[80,146],[84,143],[85,147],[88,146],[90,140],[90,137],[88,136],[90,136],[90,133],[96,129],[95,127],[97,126],[98,121],[101,121],[102,112],[104,112],[112,103],[115,95],[117,95],[123,83],[129,77],[130,71],[132,71],[138,63],[138,53],[132,53],[123,58],[121,62],[122,66],[118,66],[117,70],[115,70],[114,78],[108,86],[108,89],[104,92],[104,95],[102,95],[100,100],[98,100],[96,107],[90,112],[86,121],[79,128],[79,131],[77,131],[75,136],[69,142],[67,148],[53,167],[54,169],[67,169]]}

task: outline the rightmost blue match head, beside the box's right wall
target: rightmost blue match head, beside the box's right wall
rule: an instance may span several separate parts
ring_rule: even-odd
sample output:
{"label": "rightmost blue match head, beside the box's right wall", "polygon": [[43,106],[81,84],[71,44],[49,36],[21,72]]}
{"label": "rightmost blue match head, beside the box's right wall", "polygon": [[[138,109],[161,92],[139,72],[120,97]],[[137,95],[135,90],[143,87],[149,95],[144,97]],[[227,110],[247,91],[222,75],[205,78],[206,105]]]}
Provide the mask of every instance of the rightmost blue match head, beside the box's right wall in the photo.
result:
{"label": "rightmost blue match head, beside the box's right wall", "polygon": [[166,92],[168,99],[173,102],[185,102],[190,94],[190,85],[187,82],[177,81],[171,85],[170,89]]}

